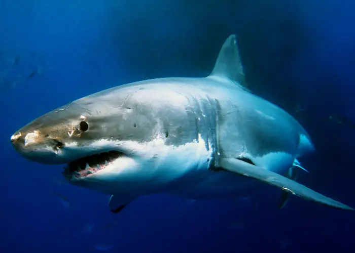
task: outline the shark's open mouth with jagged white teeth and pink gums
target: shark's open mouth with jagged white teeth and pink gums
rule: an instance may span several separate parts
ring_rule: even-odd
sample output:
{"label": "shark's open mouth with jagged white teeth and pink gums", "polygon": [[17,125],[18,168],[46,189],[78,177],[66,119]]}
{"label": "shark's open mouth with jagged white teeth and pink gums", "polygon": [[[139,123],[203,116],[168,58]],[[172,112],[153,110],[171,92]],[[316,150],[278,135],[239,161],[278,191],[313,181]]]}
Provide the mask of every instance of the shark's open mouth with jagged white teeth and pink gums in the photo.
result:
{"label": "shark's open mouth with jagged white teeth and pink gums", "polygon": [[103,170],[121,156],[126,155],[119,151],[109,151],[91,156],[85,156],[78,160],[69,162],[67,166],[64,167],[64,172],[62,174],[67,179],[72,179],[73,176],[76,178],[87,177]]}

